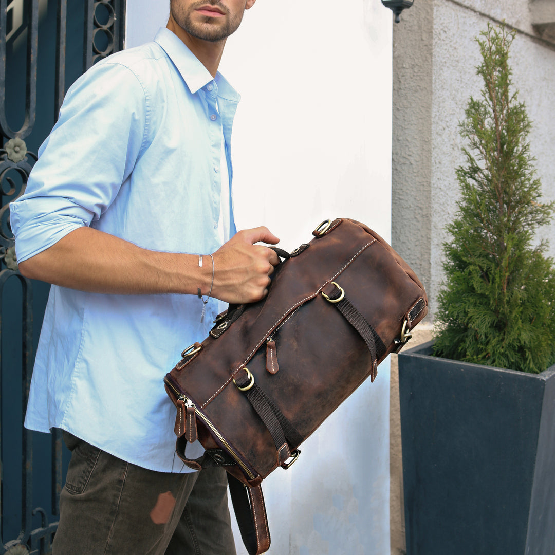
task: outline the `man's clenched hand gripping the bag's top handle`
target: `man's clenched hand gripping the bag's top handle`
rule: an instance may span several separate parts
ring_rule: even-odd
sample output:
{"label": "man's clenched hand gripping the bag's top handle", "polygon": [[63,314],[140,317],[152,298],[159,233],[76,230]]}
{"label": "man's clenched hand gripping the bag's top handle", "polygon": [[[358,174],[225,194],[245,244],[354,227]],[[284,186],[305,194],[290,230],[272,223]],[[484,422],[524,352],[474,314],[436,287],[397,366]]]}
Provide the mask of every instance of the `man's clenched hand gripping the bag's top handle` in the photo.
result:
{"label": "man's clenched hand gripping the bag's top handle", "polygon": [[[212,296],[226,302],[254,302],[268,295],[270,275],[278,255],[259,241],[275,245],[279,239],[268,228],[239,231],[214,253]],[[204,294],[208,291],[203,291]]]}

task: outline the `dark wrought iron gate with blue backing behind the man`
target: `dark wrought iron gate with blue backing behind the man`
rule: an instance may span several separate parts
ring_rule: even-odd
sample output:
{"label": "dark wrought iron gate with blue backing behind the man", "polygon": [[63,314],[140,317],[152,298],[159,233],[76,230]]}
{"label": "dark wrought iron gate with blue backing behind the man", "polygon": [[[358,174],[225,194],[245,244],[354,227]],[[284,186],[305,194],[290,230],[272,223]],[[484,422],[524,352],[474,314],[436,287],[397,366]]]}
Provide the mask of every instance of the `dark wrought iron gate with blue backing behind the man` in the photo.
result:
{"label": "dark wrought iron gate with blue backing behind the man", "polygon": [[125,0],[0,0],[0,554],[51,553],[67,463],[59,434],[23,428],[48,286],[17,270],[9,203],[67,86],[123,48],[124,22]]}

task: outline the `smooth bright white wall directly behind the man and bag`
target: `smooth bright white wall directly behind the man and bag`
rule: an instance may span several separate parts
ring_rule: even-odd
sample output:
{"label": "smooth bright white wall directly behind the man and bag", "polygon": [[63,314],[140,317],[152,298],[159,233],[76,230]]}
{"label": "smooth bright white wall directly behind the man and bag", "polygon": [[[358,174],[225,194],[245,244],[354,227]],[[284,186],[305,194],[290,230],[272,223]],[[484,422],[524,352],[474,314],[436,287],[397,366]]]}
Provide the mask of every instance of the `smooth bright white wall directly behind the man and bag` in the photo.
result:
{"label": "smooth bright white wall directly behind the man and bag", "polygon": [[[128,0],[127,46],[152,38],[167,14],[168,0]],[[347,216],[388,239],[391,12],[376,0],[259,0],[220,69],[242,95],[238,228],[267,225],[292,250],[321,220]],[[302,445],[299,462],[264,481],[269,553],[390,552],[388,365]]]}

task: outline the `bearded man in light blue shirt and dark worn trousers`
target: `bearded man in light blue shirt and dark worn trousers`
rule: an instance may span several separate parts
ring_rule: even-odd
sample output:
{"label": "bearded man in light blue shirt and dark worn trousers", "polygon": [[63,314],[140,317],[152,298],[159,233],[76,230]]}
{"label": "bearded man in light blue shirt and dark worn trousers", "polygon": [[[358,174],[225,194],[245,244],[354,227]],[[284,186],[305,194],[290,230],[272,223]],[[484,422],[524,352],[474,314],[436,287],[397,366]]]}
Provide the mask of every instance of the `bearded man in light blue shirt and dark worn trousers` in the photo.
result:
{"label": "bearded man in light blue shirt and dark worn trousers", "polygon": [[21,273],[54,284],[26,416],[72,450],[54,555],[235,553],[225,472],[175,457],[163,376],[279,261],[268,229],[235,234],[239,96],[217,73],[254,3],[171,0],[155,42],[70,88],[12,204]]}

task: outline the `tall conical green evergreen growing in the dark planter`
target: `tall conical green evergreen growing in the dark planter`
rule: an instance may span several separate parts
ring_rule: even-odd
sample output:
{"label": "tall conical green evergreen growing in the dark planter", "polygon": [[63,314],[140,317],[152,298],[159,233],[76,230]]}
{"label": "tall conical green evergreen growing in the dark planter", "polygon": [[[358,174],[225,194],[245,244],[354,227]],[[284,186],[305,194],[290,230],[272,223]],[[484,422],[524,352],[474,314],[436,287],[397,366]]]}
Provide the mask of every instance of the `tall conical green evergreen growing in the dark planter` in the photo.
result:
{"label": "tall conical green evergreen growing in the dark planter", "polygon": [[513,39],[490,24],[476,39],[483,89],[460,124],[469,148],[456,170],[461,196],[443,244],[434,354],[537,373],[555,362],[555,270],[546,243],[532,241],[554,203],[541,202],[531,122],[510,90]]}

